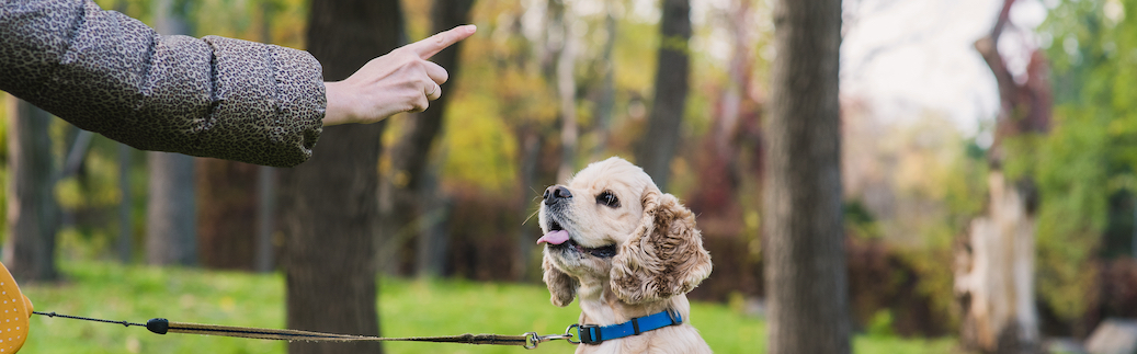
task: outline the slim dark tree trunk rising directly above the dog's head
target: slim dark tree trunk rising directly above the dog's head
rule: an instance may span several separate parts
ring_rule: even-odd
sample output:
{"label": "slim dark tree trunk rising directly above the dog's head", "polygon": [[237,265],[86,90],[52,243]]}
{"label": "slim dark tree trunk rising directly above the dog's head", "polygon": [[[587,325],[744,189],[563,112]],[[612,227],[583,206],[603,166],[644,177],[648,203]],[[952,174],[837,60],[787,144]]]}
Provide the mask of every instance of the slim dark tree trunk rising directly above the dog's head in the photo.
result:
{"label": "slim dark tree trunk rising directly above the dog's head", "polygon": [[659,26],[659,59],[655,71],[655,98],[647,121],[647,134],[636,151],[636,163],[659,189],[667,190],[671,159],[679,145],[679,127],[687,109],[691,39],[690,0],[664,0]]}

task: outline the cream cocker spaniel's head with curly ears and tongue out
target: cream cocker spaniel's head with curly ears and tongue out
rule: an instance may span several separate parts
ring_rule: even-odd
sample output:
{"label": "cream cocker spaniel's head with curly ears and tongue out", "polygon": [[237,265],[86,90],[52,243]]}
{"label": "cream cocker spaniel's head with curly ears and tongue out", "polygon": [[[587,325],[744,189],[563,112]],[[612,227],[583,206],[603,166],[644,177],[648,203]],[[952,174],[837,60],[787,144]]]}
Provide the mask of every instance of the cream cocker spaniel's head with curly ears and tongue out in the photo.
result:
{"label": "cream cocker spaniel's head with curly ears and tongue out", "polygon": [[623,302],[667,299],[711,274],[695,216],[640,167],[613,157],[545,190],[538,242],[553,304],[572,303],[581,281],[608,281]]}

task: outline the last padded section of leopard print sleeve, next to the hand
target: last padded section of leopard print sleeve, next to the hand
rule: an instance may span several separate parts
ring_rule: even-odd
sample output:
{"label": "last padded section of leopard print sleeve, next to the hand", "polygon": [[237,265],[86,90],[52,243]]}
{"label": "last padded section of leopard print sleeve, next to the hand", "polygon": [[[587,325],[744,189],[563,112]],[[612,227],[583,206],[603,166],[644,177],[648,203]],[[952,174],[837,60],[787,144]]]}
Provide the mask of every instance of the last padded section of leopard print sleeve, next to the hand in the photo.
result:
{"label": "last padded section of leopard print sleeve, next to the hand", "polygon": [[322,68],[306,51],[206,36],[214,49],[208,155],[271,166],[312,157],[326,107]]}

